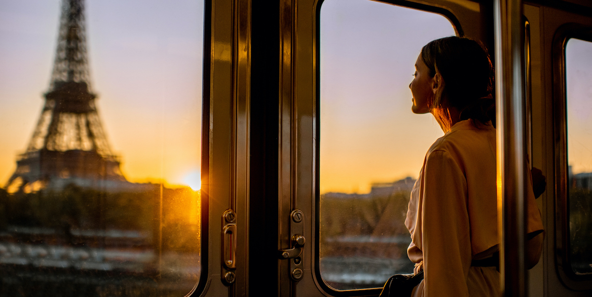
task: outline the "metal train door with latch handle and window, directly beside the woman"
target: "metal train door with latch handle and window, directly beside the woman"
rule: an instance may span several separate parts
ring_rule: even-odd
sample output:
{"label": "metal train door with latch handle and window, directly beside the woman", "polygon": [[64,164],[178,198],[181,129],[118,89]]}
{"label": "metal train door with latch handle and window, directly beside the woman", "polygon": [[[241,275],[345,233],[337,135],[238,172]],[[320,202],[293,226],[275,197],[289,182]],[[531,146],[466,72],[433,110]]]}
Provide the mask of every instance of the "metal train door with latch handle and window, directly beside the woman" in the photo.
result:
{"label": "metal train door with latch handle and window, directly beside the woman", "polygon": [[[292,91],[280,92],[289,106],[280,109],[289,118],[281,121],[288,165],[281,180],[290,176],[291,183],[280,191],[279,244],[297,246],[297,234],[306,243],[301,264],[281,260],[278,296],[378,295],[390,275],[411,272],[403,225],[408,191],[442,132],[429,127],[434,122],[422,126],[428,118],[412,118],[404,103],[411,79],[389,72],[412,74],[423,44],[446,35],[481,40],[494,53],[490,4],[388,2],[282,2],[291,22],[281,34],[291,44],[282,51],[290,76],[281,86]],[[410,60],[408,69],[397,59]],[[413,167],[409,159],[419,163]],[[294,211],[303,212],[302,222]]]}

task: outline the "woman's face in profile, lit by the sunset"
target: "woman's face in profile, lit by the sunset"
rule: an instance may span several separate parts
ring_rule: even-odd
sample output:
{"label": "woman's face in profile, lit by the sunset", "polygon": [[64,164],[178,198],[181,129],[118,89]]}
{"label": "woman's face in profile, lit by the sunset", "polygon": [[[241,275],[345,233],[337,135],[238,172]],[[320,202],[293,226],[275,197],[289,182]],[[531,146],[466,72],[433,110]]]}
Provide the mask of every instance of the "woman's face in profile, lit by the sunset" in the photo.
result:
{"label": "woman's face in profile, lit by the sunset", "polygon": [[411,111],[413,111],[414,114],[426,114],[427,112],[430,112],[428,102],[431,101],[431,98],[434,95],[432,91],[434,78],[430,77],[429,69],[427,68],[426,63],[423,62],[421,54],[417,57],[415,73],[413,76],[415,76],[415,78],[409,85],[411,94],[413,95],[413,106],[411,106]]}

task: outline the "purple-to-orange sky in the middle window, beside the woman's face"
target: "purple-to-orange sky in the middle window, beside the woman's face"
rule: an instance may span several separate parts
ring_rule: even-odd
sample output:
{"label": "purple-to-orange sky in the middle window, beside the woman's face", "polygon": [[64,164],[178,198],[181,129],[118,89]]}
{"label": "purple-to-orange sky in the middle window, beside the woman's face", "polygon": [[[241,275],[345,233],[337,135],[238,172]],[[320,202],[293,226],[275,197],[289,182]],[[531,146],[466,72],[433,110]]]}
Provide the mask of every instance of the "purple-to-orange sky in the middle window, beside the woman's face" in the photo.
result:
{"label": "purple-to-orange sky in the middle window, beside the woman's face", "polygon": [[321,7],[320,192],[367,193],[373,182],[419,175],[443,135],[432,115],[411,112],[422,47],[454,35],[439,14],[373,1]]}

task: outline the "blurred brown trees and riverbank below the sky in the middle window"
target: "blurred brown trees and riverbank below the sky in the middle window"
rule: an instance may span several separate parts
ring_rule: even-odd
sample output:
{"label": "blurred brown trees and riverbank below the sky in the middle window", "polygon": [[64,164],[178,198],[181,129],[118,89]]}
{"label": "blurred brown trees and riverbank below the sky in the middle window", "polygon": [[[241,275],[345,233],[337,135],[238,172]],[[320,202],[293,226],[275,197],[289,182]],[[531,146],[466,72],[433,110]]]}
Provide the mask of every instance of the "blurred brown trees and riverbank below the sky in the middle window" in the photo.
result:
{"label": "blurred brown trees and riverbank below the sky in the middle window", "polygon": [[319,268],[329,286],[375,288],[394,274],[413,272],[405,226],[412,182],[373,185],[366,194],[320,196]]}

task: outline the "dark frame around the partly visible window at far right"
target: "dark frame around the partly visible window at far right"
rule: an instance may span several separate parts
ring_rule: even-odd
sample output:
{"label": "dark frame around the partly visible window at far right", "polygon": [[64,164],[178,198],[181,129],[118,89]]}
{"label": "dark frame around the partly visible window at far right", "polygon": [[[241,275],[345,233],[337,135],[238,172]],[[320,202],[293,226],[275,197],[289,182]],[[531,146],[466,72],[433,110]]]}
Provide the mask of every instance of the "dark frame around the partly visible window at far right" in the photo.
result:
{"label": "dark frame around the partly visible window at far right", "polygon": [[592,273],[578,275],[571,268],[567,159],[567,72],[565,49],[571,38],[592,41],[592,27],[577,23],[561,25],[552,44],[553,108],[555,128],[555,262],[559,278],[574,290],[592,289]]}

